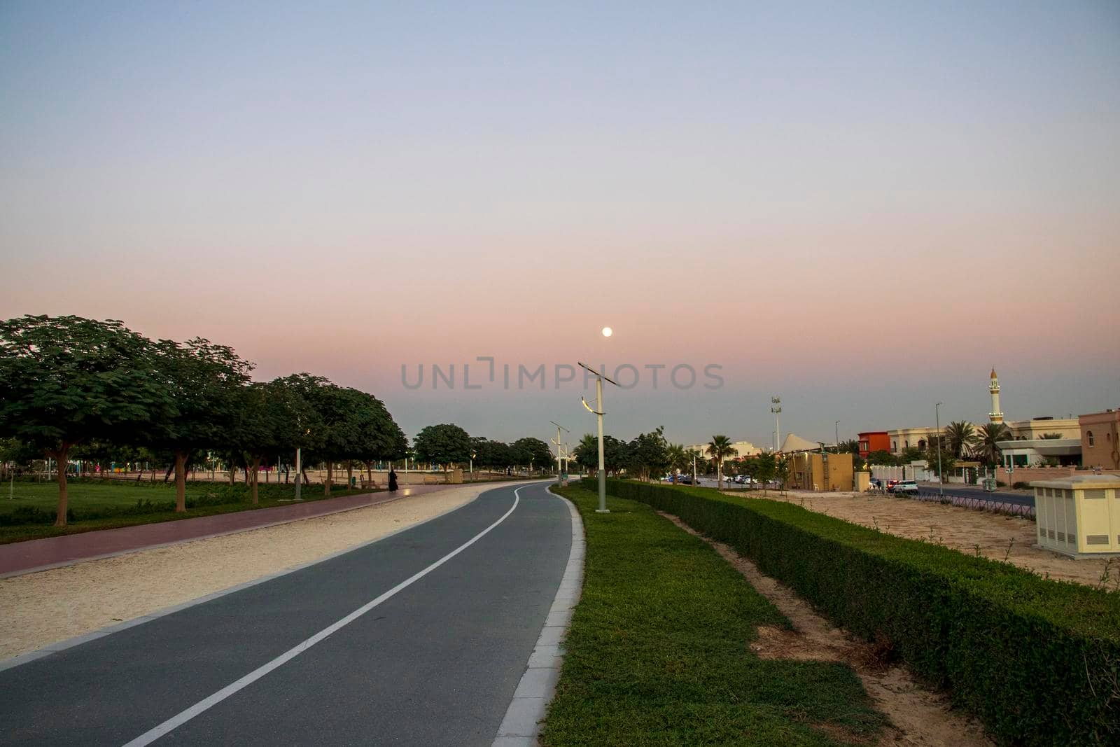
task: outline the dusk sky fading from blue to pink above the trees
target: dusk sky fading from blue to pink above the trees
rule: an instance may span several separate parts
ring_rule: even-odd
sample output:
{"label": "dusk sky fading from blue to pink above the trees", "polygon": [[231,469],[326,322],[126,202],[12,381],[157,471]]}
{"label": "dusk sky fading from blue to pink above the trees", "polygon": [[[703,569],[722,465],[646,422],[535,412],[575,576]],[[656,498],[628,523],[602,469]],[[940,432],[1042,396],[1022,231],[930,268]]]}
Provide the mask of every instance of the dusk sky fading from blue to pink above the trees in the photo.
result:
{"label": "dusk sky fading from blue to pink above the trees", "polygon": [[[410,435],[578,437],[577,360],[721,365],[609,392],[685,442],[768,445],[772,395],[810,439],[984,419],[993,365],[1009,419],[1120,405],[1116,2],[17,0],[0,101],[0,317],[205,336]],[[545,391],[463,390],[480,355]]]}

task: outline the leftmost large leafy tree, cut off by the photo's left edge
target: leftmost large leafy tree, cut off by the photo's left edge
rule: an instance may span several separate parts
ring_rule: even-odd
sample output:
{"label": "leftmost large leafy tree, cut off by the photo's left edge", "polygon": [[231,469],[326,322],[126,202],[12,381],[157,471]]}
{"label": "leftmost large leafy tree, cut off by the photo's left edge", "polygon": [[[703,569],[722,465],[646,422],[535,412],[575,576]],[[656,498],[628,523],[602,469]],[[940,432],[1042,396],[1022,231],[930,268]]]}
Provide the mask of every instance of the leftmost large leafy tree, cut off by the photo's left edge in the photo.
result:
{"label": "leftmost large leafy tree, cut off by the photo's left edge", "polygon": [[175,414],[151,340],[115,320],[24,316],[0,323],[0,437],[56,459],[66,525],[71,449],[92,439],[136,442]]}

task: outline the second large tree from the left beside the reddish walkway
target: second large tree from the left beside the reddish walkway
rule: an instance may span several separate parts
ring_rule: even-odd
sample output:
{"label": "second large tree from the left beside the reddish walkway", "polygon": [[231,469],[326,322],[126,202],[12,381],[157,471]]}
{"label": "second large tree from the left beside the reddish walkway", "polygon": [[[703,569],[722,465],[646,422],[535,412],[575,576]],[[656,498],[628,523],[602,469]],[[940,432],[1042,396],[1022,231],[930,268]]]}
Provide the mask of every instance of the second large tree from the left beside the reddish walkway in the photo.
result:
{"label": "second large tree from the left beside the reddish walkway", "polygon": [[244,404],[242,390],[253,365],[233,348],[196,337],[179,344],[157,343],[157,371],[175,405],[149,443],[175,456],[175,510],[186,505],[187,459],[190,452],[223,442]]}

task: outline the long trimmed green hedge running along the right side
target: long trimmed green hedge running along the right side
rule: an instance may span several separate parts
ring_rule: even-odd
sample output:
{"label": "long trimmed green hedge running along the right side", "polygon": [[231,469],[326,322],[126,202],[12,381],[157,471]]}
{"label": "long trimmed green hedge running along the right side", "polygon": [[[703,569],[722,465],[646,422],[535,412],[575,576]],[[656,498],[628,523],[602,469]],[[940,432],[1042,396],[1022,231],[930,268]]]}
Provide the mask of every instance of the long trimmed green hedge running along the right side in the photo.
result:
{"label": "long trimmed green hedge running along the right side", "polygon": [[792,587],[837,625],[885,638],[992,736],[1120,744],[1120,594],[760,498],[608,480]]}

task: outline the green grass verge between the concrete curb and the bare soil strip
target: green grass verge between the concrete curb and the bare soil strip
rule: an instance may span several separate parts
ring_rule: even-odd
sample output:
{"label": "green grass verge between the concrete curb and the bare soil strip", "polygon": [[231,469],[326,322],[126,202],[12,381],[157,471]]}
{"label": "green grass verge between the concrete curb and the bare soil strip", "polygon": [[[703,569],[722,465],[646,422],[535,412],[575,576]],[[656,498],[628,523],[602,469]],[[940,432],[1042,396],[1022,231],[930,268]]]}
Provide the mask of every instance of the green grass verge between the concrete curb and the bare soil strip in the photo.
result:
{"label": "green grass verge between the concrete curb and the bare soil strip", "polygon": [[544,722],[545,745],[834,745],[886,721],[856,674],[764,661],[759,625],[788,620],[702,540],[650,506],[561,491],[587,534],[582,597]]}

